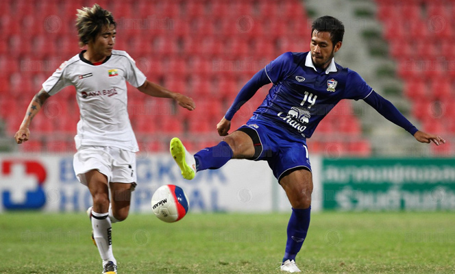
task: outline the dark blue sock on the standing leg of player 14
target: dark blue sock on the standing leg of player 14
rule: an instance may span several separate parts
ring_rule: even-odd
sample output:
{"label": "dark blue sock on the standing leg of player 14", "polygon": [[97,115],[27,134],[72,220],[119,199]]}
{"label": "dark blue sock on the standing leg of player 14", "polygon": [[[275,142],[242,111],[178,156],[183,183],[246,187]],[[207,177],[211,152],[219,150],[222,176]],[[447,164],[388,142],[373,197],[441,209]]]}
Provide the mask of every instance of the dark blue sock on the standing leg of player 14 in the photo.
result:
{"label": "dark blue sock on the standing leg of player 14", "polygon": [[286,242],[286,252],[284,253],[283,262],[286,260],[295,260],[295,256],[299,253],[306,232],[310,226],[311,206],[304,210],[293,208],[293,213],[288,223],[288,240]]}

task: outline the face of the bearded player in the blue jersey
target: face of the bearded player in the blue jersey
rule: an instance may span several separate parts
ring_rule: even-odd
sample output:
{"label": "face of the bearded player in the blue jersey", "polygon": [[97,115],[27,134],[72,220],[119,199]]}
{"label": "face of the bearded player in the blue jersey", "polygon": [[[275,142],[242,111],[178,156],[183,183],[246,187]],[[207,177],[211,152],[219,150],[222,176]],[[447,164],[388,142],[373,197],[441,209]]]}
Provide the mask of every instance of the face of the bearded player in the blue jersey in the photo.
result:
{"label": "face of the bearded player in the blue jersey", "polygon": [[334,57],[334,53],[341,47],[341,42],[337,42],[333,46],[332,40],[330,40],[329,32],[318,32],[315,30],[311,37],[311,59],[316,67],[321,69],[327,68],[330,61]]}

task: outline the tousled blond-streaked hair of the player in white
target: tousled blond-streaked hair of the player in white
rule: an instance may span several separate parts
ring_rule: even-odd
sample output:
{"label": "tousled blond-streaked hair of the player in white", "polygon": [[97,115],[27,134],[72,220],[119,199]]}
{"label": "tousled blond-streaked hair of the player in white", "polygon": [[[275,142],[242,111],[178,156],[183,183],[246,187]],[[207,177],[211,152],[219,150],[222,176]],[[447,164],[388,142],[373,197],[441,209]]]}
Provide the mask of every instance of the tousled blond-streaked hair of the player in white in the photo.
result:
{"label": "tousled blond-streaked hair of the player in white", "polygon": [[90,40],[95,40],[97,35],[103,30],[103,27],[114,25],[114,16],[108,10],[104,10],[98,4],[92,8],[84,7],[77,10],[76,29],[79,36],[79,46],[84,47]]}

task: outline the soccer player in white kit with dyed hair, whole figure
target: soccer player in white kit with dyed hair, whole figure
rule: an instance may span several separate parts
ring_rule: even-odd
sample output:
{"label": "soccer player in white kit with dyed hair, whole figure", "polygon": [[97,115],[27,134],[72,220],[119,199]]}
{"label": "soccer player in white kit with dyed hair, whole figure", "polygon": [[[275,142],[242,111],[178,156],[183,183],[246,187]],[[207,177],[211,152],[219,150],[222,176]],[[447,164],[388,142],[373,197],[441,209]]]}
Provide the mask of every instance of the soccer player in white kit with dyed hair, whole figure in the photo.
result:
{"label": "soccer player in white kit with dyed hair, whole figure", "polygon": [[[126,81],[152,97],[174,99],[194,110],[193,99],[149,82],[125,51],[114,50],[114,17],[99,5],[77,10],[79,45],[87,49],[64,62],[34,96],[19,131],[18,144],[29,140],[29,125],[42,104],[65,86],[76,88],[80,110],[74,169],[93,197],[89,209],[93,240],[103,260],[103,273],[116,273],[111,223],[123,221],[136,185],[138,144],[127,113]],[[111,192],[111,199],[109,197]]]}

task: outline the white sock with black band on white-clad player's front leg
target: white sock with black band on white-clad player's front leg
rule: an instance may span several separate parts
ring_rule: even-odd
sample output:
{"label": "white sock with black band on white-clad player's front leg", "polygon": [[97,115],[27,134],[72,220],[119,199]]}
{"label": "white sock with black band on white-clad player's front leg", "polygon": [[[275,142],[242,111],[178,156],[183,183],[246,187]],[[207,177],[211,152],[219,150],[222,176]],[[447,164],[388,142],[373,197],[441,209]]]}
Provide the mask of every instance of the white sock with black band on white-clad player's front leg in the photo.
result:
{"label": "white sock with black band on white-clad player's front leg", "polygon": [[103,260],[103,264],[108,261],[117,264],[114,254],[112,253],[112,238],[111,238],[111,225],[109,214],[97,213],[92,210],[92,227],[93,227],[93,238],[97,242],[99,256]]}

